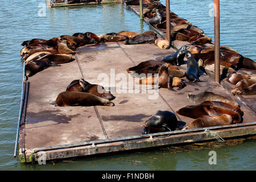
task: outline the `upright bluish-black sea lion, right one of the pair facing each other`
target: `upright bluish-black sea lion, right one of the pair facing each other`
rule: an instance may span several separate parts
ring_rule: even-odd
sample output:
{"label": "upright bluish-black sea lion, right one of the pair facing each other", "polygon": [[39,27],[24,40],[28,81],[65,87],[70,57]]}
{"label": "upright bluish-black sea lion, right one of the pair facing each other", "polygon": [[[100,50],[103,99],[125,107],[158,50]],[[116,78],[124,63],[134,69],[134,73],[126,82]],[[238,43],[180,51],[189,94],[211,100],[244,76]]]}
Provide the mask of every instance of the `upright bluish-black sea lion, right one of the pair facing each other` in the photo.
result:
{"label": "upright bluish-black sea lion, right one of the pair facing each other", "polygon": [[191,52],[186,50],[185,54],[187,55],[187,58],[188,58],[186,78],[192,82],[200,81],[199,65],[197,61],[195,60]]}

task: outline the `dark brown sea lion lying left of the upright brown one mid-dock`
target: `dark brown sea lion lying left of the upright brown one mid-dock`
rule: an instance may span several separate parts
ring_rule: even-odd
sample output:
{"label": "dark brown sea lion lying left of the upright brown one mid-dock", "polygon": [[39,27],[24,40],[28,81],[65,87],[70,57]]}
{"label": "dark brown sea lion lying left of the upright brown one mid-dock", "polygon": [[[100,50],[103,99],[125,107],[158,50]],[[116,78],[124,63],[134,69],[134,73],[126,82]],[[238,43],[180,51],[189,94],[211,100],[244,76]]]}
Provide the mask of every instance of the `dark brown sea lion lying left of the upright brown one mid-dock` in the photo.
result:
{"label": "dark brown sea lion lying left of the upright brown one mid-dock", "polygon": [[[147,60],[147,61],[142,61],[135,67],[127,68],[126,71],[127,73],[131,74],[133,77],[144,77],[147,76],[148,73],[153,74],[153,73],[158,73],[160,67],[166,62],[164,61],[158,61],[158,60]],[[172,69],[178,69],[176,66],[172,67]],[[144,75],[141,75],[144,73]]]}

